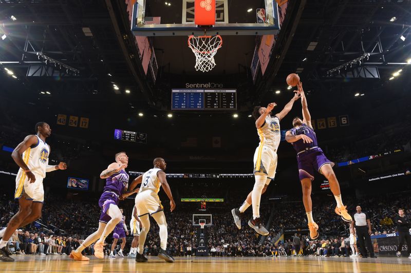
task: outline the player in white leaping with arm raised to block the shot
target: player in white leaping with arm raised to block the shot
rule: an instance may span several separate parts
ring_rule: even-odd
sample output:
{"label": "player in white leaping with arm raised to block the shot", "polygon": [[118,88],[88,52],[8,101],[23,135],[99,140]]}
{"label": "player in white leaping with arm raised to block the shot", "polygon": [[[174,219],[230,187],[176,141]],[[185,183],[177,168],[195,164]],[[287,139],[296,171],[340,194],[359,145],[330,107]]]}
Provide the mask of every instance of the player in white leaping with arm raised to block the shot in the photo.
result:
{"label": "player in white leaping with arm raised to block the shot", "polygon": [[252,204],[253,217],[248,221],[248,225],[261,235],[268,235],[268,230],[263,226],[260,219],[260,199],[261,194],[265,193],[267,186],[274,179],[275,170],[277,169],[277,150],[281,141],[279,122],[291,111],[294,101],[300,98],[299,92],[286,104],[284,109],[271,116],[271,111],[277,105],[268,104],[265,107],[255,107],[253,116],[255,127],[260,138],[260,143],[254,153],[254,177],[255,183],[251,193],[247,196],[246,201],[239,208],[233,208],[231,213],[238,229],[241,228],[241,213]]}

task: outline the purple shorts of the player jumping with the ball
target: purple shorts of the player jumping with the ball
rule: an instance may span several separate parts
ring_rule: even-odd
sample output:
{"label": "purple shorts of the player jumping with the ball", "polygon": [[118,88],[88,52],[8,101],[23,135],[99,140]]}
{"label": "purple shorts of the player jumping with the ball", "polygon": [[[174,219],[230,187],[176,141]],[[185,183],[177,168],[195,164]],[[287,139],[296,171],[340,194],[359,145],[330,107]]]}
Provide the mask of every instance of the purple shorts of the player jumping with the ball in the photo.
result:
{"label": "purple shorts of the player jumping with the ball", "polygon": [[324,155],[320,147],[297,155],[297,163],[300,180],[304,178],[314,180],[314,170],[321,174],[320,169],[323,165],[331,164],[331,167],[334,166],[334,162]]}

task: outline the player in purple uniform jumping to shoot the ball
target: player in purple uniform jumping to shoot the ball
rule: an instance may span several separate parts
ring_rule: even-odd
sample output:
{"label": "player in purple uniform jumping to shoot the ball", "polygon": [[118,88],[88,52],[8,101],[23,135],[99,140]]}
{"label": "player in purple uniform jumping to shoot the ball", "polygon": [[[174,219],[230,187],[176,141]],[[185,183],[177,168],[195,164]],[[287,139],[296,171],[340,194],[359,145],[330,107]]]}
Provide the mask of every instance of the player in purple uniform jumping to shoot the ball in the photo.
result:
{"label": "player in purple uniform jumping to shoot the ball", "polygon": [[341,199],[340,184],[335,177],[332,167],[334,163],[328,160],[318,146],[317,137],[311,126],[311,116],[308,111],[307,98],[303,90],[303,83],[298,83],[303,106],[303,120],[295,117],[292,121],[293,129],[286,132],[286,141],[290,142],[297,152],[298,173],[303,188],[303,203],[308,219],[311,239],[319,236],[318,225],[312,218],[311,181],[314,180],[314,170],[324,175],[330,183],[330,189],[337,201],[335,213],[346,222],[351,222],[346,206]]}

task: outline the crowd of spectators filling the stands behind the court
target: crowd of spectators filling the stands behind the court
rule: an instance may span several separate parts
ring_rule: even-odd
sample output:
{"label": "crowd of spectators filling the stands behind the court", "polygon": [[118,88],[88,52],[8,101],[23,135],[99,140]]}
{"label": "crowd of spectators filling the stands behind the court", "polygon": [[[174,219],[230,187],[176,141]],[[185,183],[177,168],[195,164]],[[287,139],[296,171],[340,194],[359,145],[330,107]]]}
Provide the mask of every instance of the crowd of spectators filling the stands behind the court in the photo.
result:
{"label": "crowd of spectators filling the stands behind the court", "polygon": [[[96,200],[97,201],[97,200]],[[411,195],[404,193],[393,196],[376,196],[364,198],[361,201],[345,198],[352,214],[355,206],[360,204],[364,212],[370,216],[373,233],[384,234],[396,232],[393,218],[398,207],[405,206],[406,214],[411,215],[407,204],[411,203]],[[294,244],[290,239],[284,243],[275,241],[278,232],[285,227],[305,227],[304,207],[301,201],[288,201],[273,204],[263,204],[262,218],[269,225],[270,234],[261,238],[249,228],[247,221],[251,217],[251,207],[246,212],[249,217],[242,219],[242,228],[234,225],[231,212],[224,204],[221,208],[212,209],[213,224],[206,227],[207,248],[211,256],[275,256],[275,255],[316,255],[316,256],[348,256],[349,237],[348,224],[335,215],[333,200],[313,200],[313,217],[320,226],[320,238],[310,240],[305,235],[300,236],[301,253],[295,253]],[[192,224],[192,213],[185,204],[175,212],[165,212],[169,241],[168,250],[173,256],[195,255],[198,247],[197,226]],[[129,216],[133,202],[124,203],[124,214]],[[222,209],[223,208],[223,209]],[[5,195],[0,199],[0,226],[5,226],[18,206]],[[43,208],[42,218],[22,229],[16,230],[10,239],[9,248],[16,254],[38,255],[68,255],[78,247],[81,240],[97,229],[99,208],[97,202],[69,202],[61,199],[47,199]],[[109,237],[110,238],[110,237]],[[131,240],[131,238],[129,238]],[[348,240],[348,242],[347,242]],[[110,239],[107,239],[110,243]],[[158,226],[151,225],[147,235],[144,254],[156,256],[159,250]],[[109,245],[108,245],[109,246]],[[126,249],[129,247],[127,244]],[[84,250],[84,254],[92,255],[92,245]]]}

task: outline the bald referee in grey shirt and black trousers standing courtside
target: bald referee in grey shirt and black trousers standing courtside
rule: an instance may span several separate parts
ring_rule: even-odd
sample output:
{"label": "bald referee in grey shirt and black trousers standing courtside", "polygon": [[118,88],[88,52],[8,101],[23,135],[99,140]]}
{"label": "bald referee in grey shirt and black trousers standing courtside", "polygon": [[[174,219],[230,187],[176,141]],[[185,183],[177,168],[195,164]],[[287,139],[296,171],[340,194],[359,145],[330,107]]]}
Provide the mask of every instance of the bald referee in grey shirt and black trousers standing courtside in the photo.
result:
{"label": "bald referee in grey shirt and black trousers standing courtside", "polygon": [[[357,206],[357,213],[354,214],[352,217],[351,226],[352,228],[356,227],[357,229],[357,236],[358,236],[358,245],[361,249],[361,255],[363,258],[367,258],[367,250],[365,249],[365,244],[367,244],[367,248],[371,258],[377,258],[374,254],[374,249],[372,248],[371,244],[371,222],[369,221],[369,217],[366,213],[361,212],[361,206]],[[368,226],[368,228],[367,228]]]}

